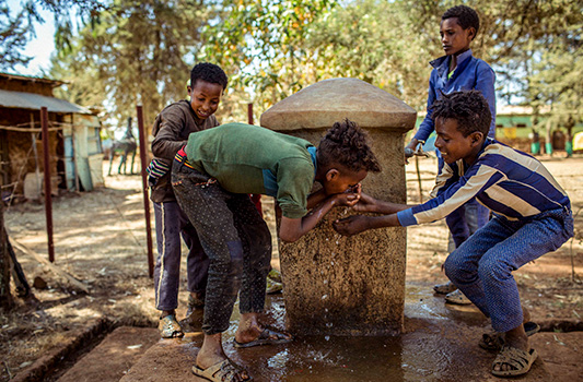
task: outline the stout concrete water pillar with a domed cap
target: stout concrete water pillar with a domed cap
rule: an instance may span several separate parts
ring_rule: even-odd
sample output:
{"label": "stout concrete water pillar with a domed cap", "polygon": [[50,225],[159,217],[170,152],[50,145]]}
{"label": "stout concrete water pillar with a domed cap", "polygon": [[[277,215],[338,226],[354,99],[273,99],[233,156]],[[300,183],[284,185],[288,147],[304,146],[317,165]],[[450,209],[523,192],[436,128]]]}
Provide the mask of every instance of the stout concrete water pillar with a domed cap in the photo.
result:
{"label": "stout concrete water pillar with a domed cap", "polygon": [[[261,115],[260,124],[317,146],[334,122],[348,118],[369,132],[383,168],[363,181],[381,200],[406,202],[404,134],[417,112],[357,79],[318,82]],[[350,238],[331,227],[352,214],[336,208],[294,243],[280,243],[288,330],[295,334],[382,335],[403,329],[405,228],[376,229]]]}

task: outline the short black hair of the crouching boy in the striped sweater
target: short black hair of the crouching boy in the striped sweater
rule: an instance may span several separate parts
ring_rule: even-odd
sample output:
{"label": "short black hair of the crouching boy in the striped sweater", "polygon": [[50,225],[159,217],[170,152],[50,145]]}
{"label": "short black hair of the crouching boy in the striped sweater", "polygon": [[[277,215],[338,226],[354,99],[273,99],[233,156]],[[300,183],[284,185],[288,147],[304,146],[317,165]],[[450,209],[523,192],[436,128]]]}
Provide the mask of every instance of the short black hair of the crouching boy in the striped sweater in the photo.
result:
{"label": "short black hair of the crouching boy in the striped sweater", "polygon": [[431,118],[433,121],[436,121],[438,118],[455,119],[457,130],[464,136],[468,136],[475,131],[488,136],[492,122],[488,100],[479,91],[442,94],[442,97],[433,103]]}

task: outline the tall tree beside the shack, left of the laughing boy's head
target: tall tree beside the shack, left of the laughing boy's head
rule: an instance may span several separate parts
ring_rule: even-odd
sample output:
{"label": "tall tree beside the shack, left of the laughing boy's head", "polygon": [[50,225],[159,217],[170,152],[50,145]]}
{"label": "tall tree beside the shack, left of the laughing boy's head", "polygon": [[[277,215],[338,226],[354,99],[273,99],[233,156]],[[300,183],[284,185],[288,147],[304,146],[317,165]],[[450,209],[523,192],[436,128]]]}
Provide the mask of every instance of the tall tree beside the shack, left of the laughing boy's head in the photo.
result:
{"label": "tall tree beside the shack, left of the laughing boy's head", "polygon": [[[149,127],[166,104],[186,95],[186,81],[209,9],[191,0],[114,0],[55,59],[77,102],[98,103],[116,120],[144,110]],[[93,88],[93,87],[96,88]]]}

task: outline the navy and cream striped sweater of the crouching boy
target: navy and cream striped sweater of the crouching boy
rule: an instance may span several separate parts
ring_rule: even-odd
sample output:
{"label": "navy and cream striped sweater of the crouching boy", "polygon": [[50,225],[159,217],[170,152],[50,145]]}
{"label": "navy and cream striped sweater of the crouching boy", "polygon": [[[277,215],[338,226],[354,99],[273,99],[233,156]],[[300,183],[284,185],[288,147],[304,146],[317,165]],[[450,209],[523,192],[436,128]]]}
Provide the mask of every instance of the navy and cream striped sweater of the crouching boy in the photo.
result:
{"label": "navy and cream striped sweater of the crouching boy", "polygon": [[445,164],[431,196],[399,212],[399,223],[411,226],[439,220],[473,198],[511,220],[571,208],[569,196],[540,162],[492,139],[485,142],[471,166],[463,160]]}

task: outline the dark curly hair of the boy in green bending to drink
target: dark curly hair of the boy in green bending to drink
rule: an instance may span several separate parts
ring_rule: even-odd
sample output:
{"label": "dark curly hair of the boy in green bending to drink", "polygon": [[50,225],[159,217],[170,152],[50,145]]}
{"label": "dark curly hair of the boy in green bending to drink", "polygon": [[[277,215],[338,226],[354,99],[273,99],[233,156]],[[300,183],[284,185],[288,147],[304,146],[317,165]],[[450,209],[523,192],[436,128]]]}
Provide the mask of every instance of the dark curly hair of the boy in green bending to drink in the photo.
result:
{"label": "dark curly hair of the boy in green bending to drink", "polygon": [[366,142],[368,135],[349,119],[336,122],[319,141],[318,165],[340,164],[352,171],[380,172],[381,165]]}

